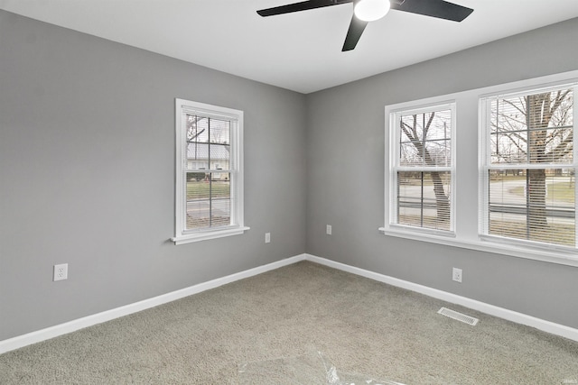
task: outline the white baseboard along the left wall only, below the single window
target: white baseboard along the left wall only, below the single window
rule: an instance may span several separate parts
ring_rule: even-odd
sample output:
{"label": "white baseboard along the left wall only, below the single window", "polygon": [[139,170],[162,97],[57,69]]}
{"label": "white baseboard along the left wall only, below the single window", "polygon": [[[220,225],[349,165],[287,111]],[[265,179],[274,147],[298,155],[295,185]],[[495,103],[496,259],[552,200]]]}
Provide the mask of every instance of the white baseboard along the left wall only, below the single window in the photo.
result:
{"label": "white baseboard along the left wall only, below the single window", "polygon": [[130,314],[145,310],[147,308],[163,305],[165,303],[172,302],[180,298],[188,297],[205,290],[215,289],[218,288],[219,286],[226,285],[230,282],[234,282],[236,280],[243,280],[245,278],[249,278],[269,270],[279,269],[286,265],[290,265],[298,261],[303,261],[304,259],[305,254],[296,255],[294,257],[269,263],[264,266],[256,267],[254,269],[241,271],[236,274],[231,274],[226,277],[218,278],[216,280],[203,282],[198,285],[191,286],[189,288],[172,291],[171,293],[163,294],[162,296],[144,299],[142,301],[135,302],[133,304],[126,305],[124,307],[117,307],[92,316],[84,316],[82,318],[75,319],[61,325],[54,325],[32,333],[28,333],[26,335],[18,335],[14,338],[9,338],[7,340],[0,341],[0,354],[21,348],[29,344],[40,343],[42,341],[57,337],[59,335],[66,335],[68,333],[77,331],[85,327],[98,325],[121,316],[128,316]]}

